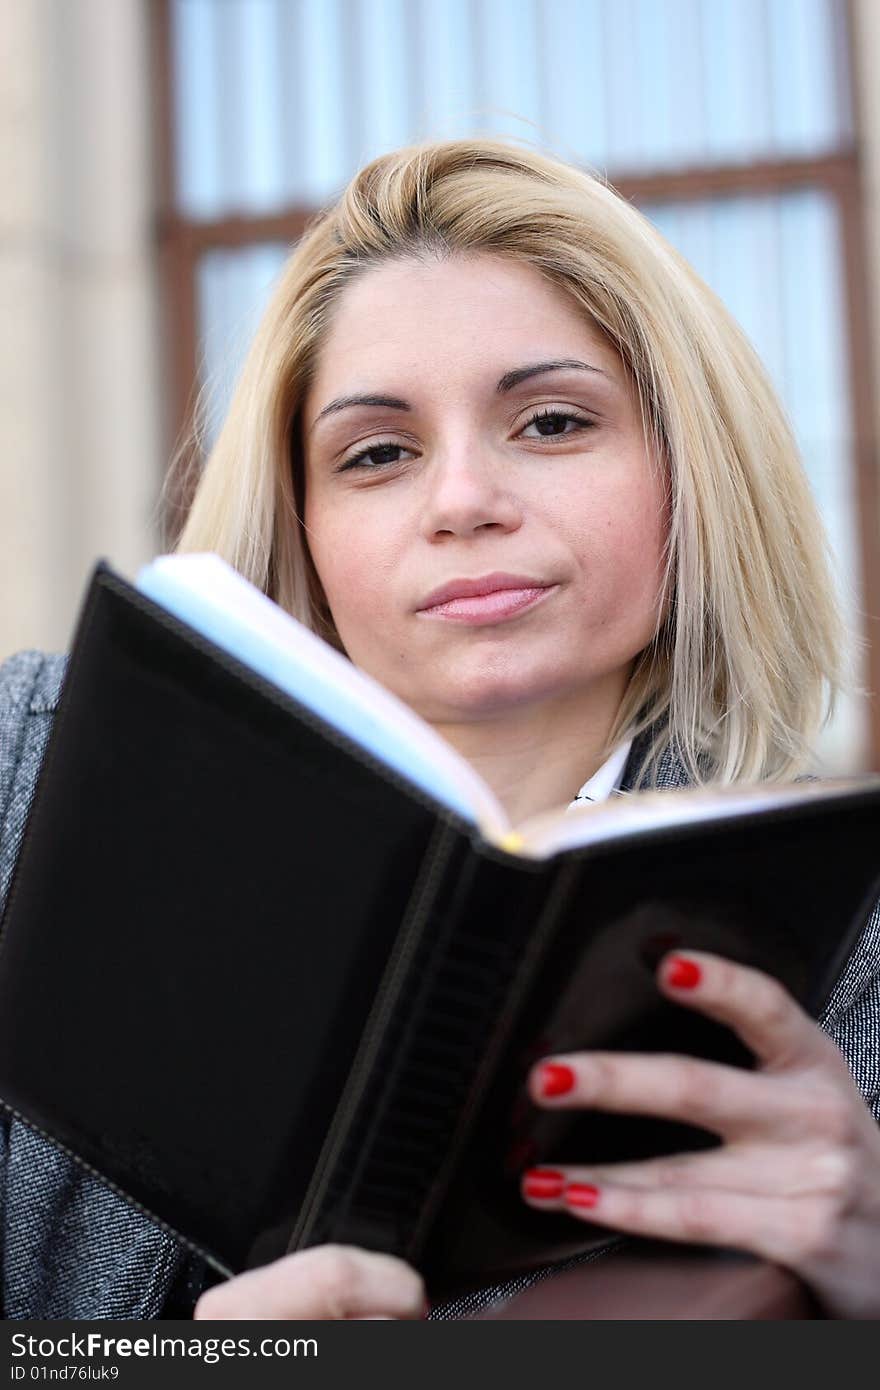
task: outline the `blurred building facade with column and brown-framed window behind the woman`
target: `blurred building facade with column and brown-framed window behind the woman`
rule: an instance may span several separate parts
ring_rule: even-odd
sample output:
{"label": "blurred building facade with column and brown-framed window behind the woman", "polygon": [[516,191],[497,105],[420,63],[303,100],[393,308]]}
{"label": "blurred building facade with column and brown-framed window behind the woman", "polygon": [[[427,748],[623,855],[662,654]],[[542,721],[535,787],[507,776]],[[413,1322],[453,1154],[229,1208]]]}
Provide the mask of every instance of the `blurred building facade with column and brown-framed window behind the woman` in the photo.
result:
{"label": "blurred building facade with column and brown-framed window behind the woman", "polygon": [[[7,0],[0,659],[160,543],[291,243],[367,158],[492,133],[598,168],[722,295],[788,409],[880,687],[876,0]],[[829,767],[880,766],[879,701]]]}

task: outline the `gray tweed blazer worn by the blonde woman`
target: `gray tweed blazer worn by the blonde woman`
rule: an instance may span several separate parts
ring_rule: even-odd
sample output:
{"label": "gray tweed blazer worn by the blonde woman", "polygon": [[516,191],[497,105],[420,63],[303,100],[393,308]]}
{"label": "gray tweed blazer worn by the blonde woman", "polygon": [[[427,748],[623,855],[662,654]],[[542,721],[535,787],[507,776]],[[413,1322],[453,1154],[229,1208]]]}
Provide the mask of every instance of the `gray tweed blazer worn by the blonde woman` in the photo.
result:
{"label": "gray tweed blazer worn by the blonde woman", "polygon": [[[65,657],[21,652],[0,666],[0,913],[64,678]],[[623,788],[634,790],[633,763]],[[670,755],[663,787],[687,785]],[[831,994],[823,1027],[880,1119],[880,903]],[[186,1318],[215,1282],[204,1262],[92,1173],[0,1115],[4,1318]],[[613,1241],[612,1241],[613,1243]],[[460,1316],[551,1270],[482,1290],[435,1316]]]}

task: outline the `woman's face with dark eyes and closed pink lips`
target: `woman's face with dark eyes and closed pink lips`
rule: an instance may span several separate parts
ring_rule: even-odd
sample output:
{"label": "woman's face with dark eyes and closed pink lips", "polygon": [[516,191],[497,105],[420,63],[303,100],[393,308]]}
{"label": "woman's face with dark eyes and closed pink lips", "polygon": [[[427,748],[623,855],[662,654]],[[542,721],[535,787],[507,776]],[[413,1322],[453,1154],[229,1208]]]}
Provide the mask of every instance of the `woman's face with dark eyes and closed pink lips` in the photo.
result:
{"label": "woman's face with dark eyes and closed pink lips", "polygon": [[[370,270],[302,420],[309,546],[356,666],[435,724],[623,691],[663,489],[620,359],[563,291],[487,254]],[[425,606],[499,574],[519,596]]]}

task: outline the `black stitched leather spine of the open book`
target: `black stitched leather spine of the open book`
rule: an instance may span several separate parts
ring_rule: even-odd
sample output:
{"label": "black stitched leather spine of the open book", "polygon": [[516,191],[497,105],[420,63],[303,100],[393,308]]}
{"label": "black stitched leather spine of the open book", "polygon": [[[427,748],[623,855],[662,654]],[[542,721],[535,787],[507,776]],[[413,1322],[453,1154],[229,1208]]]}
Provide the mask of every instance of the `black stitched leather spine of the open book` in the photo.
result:
{"label": "black stitched leather spine of the open book", "polygon": [[346,1241],[412,1258],[524,962],[556,915],[556,878],[552,863],[509,860],[463,835],[446,845],[345,1137],[292,1245]]}

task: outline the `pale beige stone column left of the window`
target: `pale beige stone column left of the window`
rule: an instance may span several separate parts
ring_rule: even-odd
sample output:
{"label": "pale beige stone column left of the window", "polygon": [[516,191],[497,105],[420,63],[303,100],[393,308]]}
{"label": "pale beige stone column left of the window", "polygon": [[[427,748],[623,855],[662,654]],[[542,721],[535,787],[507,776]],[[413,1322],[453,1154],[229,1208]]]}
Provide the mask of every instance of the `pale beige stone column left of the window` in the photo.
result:
{"label": "pale beige stone column left of the window", "polygon": [[92,564],[156,548],[149,0],[6,0],[0,660],[64,649]]}

